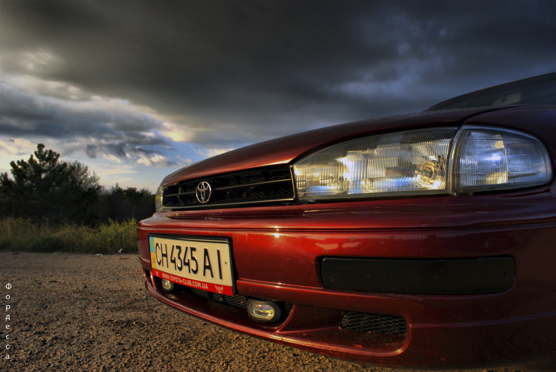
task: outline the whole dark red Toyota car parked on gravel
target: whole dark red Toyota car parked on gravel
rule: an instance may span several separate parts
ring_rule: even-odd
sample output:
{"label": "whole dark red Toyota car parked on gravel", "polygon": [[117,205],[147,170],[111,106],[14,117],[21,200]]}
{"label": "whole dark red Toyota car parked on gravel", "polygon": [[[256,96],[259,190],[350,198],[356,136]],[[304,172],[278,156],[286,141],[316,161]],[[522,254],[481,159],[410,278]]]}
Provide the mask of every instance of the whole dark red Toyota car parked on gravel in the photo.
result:
{"label": "whole dark red Toyota car parked on gravel", "polygon": [[138,225],[146,289],[359,363],[550,359],[555,103],[553,73],[180,169]]}

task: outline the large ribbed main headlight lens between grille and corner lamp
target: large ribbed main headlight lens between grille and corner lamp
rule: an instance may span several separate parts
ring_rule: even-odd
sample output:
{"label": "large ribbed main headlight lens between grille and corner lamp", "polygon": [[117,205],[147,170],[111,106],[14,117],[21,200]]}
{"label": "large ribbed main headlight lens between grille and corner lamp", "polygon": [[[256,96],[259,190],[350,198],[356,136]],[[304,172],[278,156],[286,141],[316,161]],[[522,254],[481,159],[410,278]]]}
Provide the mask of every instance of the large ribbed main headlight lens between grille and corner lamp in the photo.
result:
{"label": "large ribbed main headlight lens between grille and corner lamp", "polygon": [[458,128],[408,130],[332,145],[294,165],[300,199],[446,192]]}

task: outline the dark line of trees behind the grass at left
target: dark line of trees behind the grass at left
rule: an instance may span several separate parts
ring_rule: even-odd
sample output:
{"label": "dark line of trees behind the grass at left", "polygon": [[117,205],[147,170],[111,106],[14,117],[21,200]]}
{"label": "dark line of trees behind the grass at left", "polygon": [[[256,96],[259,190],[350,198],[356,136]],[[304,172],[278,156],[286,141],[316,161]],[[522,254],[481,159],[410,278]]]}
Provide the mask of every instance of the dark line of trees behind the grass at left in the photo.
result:
{"label": "dark line of trees behind the grass at left", "polygon": [[39,143],[34,156],[11,162],[13,179],[0,174],[0,217],[39,223],[95,225],[108,219],[142,219],[155,213],[155,195],[147,189],[103,188],[87,165],[60,159]]}

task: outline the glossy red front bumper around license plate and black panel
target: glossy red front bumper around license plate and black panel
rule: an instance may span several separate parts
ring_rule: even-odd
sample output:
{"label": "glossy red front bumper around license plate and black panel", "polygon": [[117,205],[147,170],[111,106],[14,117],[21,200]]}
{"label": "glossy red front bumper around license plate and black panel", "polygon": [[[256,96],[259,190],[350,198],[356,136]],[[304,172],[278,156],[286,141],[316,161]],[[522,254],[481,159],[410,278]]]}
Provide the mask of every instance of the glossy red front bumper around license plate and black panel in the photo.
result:
{"label": "glossy red front bumper around license plate and black panel", "polygon": [[[556,346],[556,220],[549,187],[469,197],[166,212],[143,220],[145,285],[163,303],[217,325],[359,363],[433,369],[512,365]],[[281,323],[186,293],[152,274],[148,235],[225,237],[237,293],[293,304]],[[325,288],[324,258],[510,257],[509,289],[483,294],[395,294]],[[395,272],[392,273],[395,275]],[[425,278],[426,280],[426,278]],[[346,311],[407,321],[405,334],[340,328]]]}

